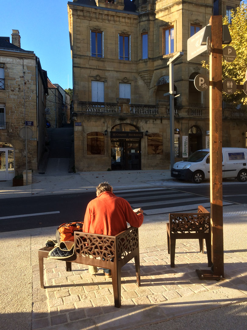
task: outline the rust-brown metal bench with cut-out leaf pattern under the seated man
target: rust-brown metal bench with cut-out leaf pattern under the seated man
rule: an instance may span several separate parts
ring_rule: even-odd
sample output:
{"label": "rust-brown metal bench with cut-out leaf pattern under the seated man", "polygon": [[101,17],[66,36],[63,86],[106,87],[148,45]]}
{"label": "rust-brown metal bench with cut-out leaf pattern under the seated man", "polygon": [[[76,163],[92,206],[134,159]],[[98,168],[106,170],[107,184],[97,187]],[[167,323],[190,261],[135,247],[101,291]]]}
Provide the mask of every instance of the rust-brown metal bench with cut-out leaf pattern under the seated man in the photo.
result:
{"label": "rust-brown metal bench with cut-out leaf pattern under the seated man", "polygon": [[[48,257],[51,249],[39,249],[40,282],[42,288],[44,288],[43,258]],[[74,261],[66,261],[66,270],[71,271],[71,262],[110,269],[115,307],[121,306],[121,268],[133,258],[135,259],[137,285],[140,286],[138,228],[129,227],[117,236],[74,232],[74,249],[76,259]]]}

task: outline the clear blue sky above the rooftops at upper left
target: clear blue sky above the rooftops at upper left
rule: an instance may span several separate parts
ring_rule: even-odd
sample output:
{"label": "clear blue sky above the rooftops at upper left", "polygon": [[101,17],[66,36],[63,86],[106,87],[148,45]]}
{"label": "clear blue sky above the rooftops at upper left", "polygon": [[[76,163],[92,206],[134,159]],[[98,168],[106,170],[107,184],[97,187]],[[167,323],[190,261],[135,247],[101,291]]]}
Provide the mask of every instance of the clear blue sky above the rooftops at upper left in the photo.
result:
{"label": "clear blue sky above the rooftops at upper left", "polygon": [[[71,0],[72,1],[72,0]],[[21,48],[40,58],[52,83],[72,87],[69,45],[68,0],[5,0],[2,5],[1,37],[19,30]]]}

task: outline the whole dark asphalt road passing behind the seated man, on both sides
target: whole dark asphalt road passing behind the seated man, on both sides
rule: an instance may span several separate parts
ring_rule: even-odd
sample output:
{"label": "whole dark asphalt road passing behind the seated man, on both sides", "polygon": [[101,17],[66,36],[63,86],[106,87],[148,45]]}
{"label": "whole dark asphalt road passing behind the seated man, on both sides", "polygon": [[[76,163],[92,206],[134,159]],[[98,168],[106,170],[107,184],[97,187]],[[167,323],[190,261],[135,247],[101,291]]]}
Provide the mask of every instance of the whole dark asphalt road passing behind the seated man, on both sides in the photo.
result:
{"label": "whole dark asphalt road passing behind the seated man, on both sides", "polygon": [[[162,189],[165,187],[162,187]],[[223,200],[238,204],[245,204],[247,202],[247,185],[243,183],[236,183],[223,185]],[[156,188],[157,189],[157,188]],[[195,185],[195,186],[183,186],[183,187],[169,187],[174,190],[175,193],[187,192],[192,194],[191,197],[206,196],[210,197],[209,186]],[[164,189],[165,190],[165,189]],[[135,196],[135,202],[142,206],[145,202],[150,202],[152,194],[155,193],[155,189],[149,189],[149,194],[143,195],[138,200],[138,195],[133,192]],[[121,195],[118,191],[115,191],[116,195]],[[160,192],[159,192],[160,193]],[[165,193],[165,192],[164,192]],[[165,195],[164,195],[165,196]],[[177,195],[178,196],[178,195]],[[186,198],[183,194],[179,195],[179,203],[177,198],[176,207],[181,205],[187,205]],[[86,193],[73,193],[64,195],[43,195],[43,196],[32,196],[32,197],[20,197],[20,198],[8,198],[1,200],[1,227],[0,232],[31,229],[31,228],[43,228],[50,226],[59,226],[64,222],[71,221],[82,221],[86,211],[87,204],[90,200],[96,197],[95,192]],[[128,200],[131,197],[131,191],[129,190],[129,196],[123,196]],[[140,196],[139,196],[140,197]],[[162,198],[162,196],[160,196]],[[166,207],[170,207],[174,203],[174,194],[166,195]],[[183,201],[184,199],[184,201]],[[14,203],[13,203],[14,202]],[[130,201],[133,204],[133,201]],[[195,203],[198,203],[196,201]],[[151,203],[152,204],[152,203]],[[134,208],[136,205],[132,205]],[[138,206],[138,207],[139,207]],[[153,203],[151,209],[153,211],[150,214],[155,214],[155,206]],[[145,207],[143,207],[145,210]],[[150,209],[150,207],[149,207]],[[169,209],[170,210],[170,209]],[[161,210],[161,213],[163,211]],[[170,212],[170,211],[169,211]],[[157,212],[158,213],[158,212]],[[164,212],[163,212],[164,213]]]}

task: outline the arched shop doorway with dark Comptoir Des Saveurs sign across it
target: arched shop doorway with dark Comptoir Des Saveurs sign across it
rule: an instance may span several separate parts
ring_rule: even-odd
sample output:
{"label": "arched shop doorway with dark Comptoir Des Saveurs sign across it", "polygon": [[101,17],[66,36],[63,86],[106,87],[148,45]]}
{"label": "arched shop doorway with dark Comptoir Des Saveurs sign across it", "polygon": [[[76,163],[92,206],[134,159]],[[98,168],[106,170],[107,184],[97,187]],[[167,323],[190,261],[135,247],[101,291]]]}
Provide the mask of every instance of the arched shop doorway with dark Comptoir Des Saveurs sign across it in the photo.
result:
{"label": "arched shop doorway with dark Comptoir Des Saveurs sign across it", "polygon": [[139,129],[131,124],[119,124],[111,129],[113,171],[141,169],[141,133],[137,132]]}

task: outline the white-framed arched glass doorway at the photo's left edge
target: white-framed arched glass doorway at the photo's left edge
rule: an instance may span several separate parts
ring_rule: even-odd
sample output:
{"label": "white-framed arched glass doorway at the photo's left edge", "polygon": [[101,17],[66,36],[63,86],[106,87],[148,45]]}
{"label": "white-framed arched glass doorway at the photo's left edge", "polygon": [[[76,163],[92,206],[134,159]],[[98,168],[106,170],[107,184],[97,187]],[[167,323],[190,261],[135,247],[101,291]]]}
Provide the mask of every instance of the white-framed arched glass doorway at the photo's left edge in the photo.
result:
{"label": "white-framed arched glass doorway at the photo's left edge", "polygon": [[14,178],[14,147],[7,142],[0,142],[0,181]]}

